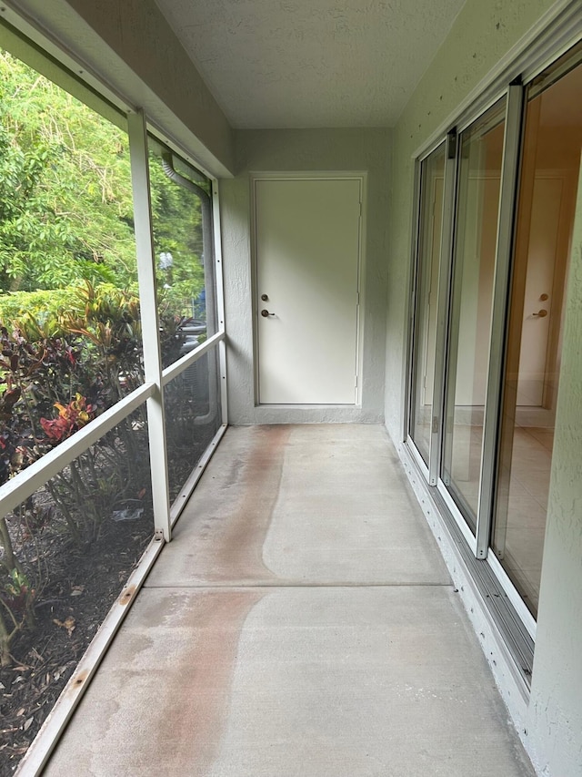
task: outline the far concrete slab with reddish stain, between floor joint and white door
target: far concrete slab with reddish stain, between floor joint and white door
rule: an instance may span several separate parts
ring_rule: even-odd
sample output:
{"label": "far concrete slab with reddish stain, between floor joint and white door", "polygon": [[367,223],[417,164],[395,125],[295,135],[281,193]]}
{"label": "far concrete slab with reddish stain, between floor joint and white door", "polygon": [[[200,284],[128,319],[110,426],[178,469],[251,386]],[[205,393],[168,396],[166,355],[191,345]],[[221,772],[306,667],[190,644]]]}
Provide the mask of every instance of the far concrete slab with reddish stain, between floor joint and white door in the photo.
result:
{"label": "far concrete slab with reddish stain, between floor joint and white door", "polygon": [[386,431],[230,428],[147,586],[448,584]]}

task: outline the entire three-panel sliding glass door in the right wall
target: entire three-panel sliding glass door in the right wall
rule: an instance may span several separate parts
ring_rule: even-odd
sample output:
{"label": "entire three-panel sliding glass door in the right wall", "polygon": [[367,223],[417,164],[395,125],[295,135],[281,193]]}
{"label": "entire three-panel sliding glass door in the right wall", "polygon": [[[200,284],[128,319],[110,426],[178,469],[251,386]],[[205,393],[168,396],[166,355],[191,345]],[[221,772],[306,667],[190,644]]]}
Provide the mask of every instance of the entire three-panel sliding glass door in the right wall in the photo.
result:
{"label": "entire three-panel sliding glass door in the right wall", "polygon": [[532,637],[582,208],[581,63],[579,44],[507,85],[419,165],[408,444]]}

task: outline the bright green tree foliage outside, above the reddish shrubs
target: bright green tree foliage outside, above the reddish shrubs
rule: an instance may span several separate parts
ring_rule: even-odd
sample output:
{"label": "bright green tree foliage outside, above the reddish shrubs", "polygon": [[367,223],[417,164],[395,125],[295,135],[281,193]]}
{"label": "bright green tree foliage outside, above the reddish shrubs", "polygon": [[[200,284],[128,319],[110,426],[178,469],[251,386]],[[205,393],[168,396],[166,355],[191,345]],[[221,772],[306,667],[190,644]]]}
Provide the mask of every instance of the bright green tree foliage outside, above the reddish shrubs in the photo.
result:
{"label": "bright green tree foliage outside, above the reddish shrubs", "polygon": [[[200,203],[154,152],[150,178],[156,257],[174,259],[159,285],[190,300],[204,286]],[[0,52],[0,292],[84,280],[130,288],[133,224],[126,133]]]}

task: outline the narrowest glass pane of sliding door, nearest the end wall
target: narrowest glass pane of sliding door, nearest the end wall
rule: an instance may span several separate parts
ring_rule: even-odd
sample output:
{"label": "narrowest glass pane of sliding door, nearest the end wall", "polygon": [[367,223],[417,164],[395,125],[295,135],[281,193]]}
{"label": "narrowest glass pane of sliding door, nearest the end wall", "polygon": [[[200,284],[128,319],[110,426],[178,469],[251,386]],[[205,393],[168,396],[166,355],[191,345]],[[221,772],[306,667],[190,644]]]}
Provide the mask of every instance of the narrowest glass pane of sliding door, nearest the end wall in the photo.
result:
{"label": "narrowest glass pane of sliding door, nearest the end wall", "polygon": [[443,221],[445,145],[436,148],[420,168],[420,219],[416,275],[416,319],[410,436],[428,464],[435,376],[437,290]]}

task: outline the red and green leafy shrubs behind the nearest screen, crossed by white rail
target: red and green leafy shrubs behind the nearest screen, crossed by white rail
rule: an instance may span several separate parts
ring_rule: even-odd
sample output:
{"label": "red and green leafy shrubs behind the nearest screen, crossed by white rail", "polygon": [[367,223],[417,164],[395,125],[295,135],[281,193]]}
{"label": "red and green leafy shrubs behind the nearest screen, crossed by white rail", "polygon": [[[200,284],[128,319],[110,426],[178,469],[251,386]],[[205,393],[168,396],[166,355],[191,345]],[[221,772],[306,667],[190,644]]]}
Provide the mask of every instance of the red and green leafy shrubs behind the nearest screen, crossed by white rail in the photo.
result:
{"label": "red and green leafy shrubs behind the nearest screen, crossed by white rail", "polygon": [[[139,306],[135,296],[85,283],[66,310],[54,310],[51,325],[27,313],[12,331],[0,330],[0,483],[16,475],[95,415],[143,381]],[[53,332],[58,322],[58,333]],[[141,412],[141,409],[140,411]],[[45,486],[52,510],[31,497],[0,519],[0,659],[10,660],[15,635],[33,623],[34,596],[18,581],[36,576],[27,560],[28,537],[48,517],[59,519],[68,537],[83,547],[99,537],[105,518],[144,469],[146,430],[130,419],[117,425]],[[15,533],[20,540],[15,549]],[[29,554],[30,556],[30,554]],[[38,557],[38,553],[35,553]],[[2,591],[4,590],[4,594]],[[26,596],[25,596],[26,594]],[[20,611],[22,609],[22,612]]]}

